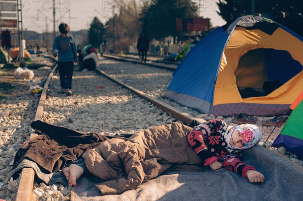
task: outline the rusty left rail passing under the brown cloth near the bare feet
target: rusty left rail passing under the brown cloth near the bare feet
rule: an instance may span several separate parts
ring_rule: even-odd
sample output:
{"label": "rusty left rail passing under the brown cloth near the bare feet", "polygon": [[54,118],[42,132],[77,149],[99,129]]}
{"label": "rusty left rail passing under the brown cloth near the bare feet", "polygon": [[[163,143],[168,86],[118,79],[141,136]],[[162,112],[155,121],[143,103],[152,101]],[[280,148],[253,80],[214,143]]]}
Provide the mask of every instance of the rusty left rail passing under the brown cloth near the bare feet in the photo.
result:
{"label": "rusty left rail passing under the brown cloth near the bare feet", "polygon": [[[35,121],[36,120],[42,120],[42,115],[43,115],[43,110],[44,110],[44,102],[46,100],[46,92],[48,89],[49,82],[51,81],[54,72],[57,69],[57,65],[54,67],[52,72],[48,75],[47,80],[45,81],[42,94],[40,96],[40,100],[38,103],[38,108],[37,112],[35,115]],[[31,135],[30,138],[33,138],[37,136],[35,133],[35,130],[31,130]],[[23,168],[21,172],[21,178],[20,178],[20,183],[18,187],[18,192],[16,196],[16,201],[23,201],[23,200],[37,200],[37,197],[33,197],[33,184],[34,184],[34,177],[35,177],[35,172],[32,168]]]}

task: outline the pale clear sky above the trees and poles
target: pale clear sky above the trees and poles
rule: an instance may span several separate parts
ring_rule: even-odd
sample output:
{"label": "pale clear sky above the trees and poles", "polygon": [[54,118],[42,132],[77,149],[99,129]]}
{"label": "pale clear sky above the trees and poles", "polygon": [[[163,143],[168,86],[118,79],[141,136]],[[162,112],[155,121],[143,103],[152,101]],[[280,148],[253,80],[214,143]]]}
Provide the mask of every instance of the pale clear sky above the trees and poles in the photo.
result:
{"label": "pale clear sky above the trees and poles", "polygon": [[[193,1],[199,4],[199,0]],[[144,8],[141,0],[134,0],[135,4],[130,4],[133,0],[124,0],[124,2],[126,3],[123,4],[122,1],[117,3],[109,0],[55,1],[56,21],[57,23],[68,23],[72,31],[78,31],[80,29],[87,29],[94,16],[105,23],[113,15],[112,6],[116,6],[115,12],[119,12],[119,9],[128,9],[130,6]],[[216,0],[201,0],[200,16],[210,18],[214,26],[221,26],[225,24],[225,21],[216,12],[218,11],[217,2]],[[39,33],[44,32],[46,30],[45,18],[47,17],[48,31],[53,32],[53,1],[23,0],[22,4],[23,28]],[[59,19],[61,16],[63,17]],[[58,24],[56,24],[56,29],[57,27]]]}

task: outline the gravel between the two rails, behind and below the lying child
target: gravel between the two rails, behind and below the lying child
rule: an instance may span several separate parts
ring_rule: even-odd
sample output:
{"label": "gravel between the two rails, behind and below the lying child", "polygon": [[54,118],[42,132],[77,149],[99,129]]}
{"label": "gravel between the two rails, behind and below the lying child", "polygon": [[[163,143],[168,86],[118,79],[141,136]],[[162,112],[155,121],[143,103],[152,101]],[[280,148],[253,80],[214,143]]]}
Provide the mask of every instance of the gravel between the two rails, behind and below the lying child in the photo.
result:
{"label": "gravel between the two rails, behind and below the lying child", "polygon": [[[73,96],[61,94],[59,77],[53,77],[44,105],[44,122],[84,132],[115,135],[175,121],[150,102],[94,72],[75,71],[72,91]],[[69,199],[70,187],[35,186],[34,192],[39,200]],[[60,193],[55,190],[54,194],[54,189],[60,189]]]}

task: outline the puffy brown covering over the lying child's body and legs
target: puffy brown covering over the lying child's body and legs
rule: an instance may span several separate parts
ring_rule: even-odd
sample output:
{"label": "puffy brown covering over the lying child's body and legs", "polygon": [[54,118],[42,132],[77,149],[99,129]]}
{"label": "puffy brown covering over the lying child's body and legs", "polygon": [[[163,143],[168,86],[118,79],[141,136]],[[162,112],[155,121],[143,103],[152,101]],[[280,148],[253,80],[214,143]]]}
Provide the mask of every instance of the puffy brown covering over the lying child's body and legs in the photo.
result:
{"label": "puffy brown covering over the lying child's body and legs", "polygon": [[83,154],[88,170],[100,179],[102,195],[119,194],[160,175],[173,164],[201,164],[187,143],[191,127],[168,123],[138,131],[128,140],[110,139]]}

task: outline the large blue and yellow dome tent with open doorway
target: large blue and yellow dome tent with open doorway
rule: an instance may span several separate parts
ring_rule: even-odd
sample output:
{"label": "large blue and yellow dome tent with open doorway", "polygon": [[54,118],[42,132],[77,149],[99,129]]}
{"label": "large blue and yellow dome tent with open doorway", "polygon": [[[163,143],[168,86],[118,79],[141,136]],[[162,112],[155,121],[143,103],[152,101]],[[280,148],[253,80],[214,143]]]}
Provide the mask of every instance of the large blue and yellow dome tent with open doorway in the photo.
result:
{"label": "large blue and yellow dome tent with open doorway", "polygon": [[[201,39],[179,64],[164,96],[214,115],[283,114],[303,91],[303,38],[268,19],[248,18],[250,27],[234,23],[230,32],[223,26]],[[281,86],[266,96],[239,93],[239,88],[262,91],[263,83],[273,81]]]}

